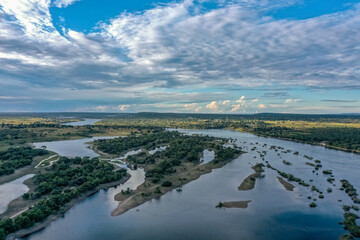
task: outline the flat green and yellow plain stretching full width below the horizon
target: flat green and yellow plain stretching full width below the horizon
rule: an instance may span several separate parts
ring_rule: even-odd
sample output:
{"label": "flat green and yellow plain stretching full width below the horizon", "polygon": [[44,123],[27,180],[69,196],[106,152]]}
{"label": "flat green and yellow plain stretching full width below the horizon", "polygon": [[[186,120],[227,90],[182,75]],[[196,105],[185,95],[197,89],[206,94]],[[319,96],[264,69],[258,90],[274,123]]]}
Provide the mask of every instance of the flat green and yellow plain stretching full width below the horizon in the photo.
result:
{"label": "flat green and yellow plain stretching full width below the horizon", "polygon": [[[26,115],[26,114],[22,114]],[[254,114],[254,115],[221,115],[221,114],[172,114],[172,113],[136,113],[136,114],[113,114],[111,117],[104,114],[27,114],[27,116],[16,114],[2,114],[0,123],[3,122],[3,129],[13,127],[32,128],[30,134],[47,134],[61,137],[61,134],[78,133],[65,131],[65,133],[53,132],[56,128],[68,128],[60,123],[69,119],[59,118],[60,116],[75,116],[77,119],[104,118],[96,126],[75,127],[82,130],[82,134],[93,135],[92,131],[103,132],[104,129],[97,128],[122,128],[122,129],[148,129],[152,127],[161,128],[195,128],[195,129],[235,129],[251,132],[261,136],[290,139],[294,141],[319,144],[340,150],[360,152],[360,120],[354,115],[301,115],[301,114]],[[1,114],[0,114],[1,117]],[[77,120],[77,119],[72,119]],[[1,121],[2,120],[2,121]],[[0,125],[1,126],[1,125]],[[0,127],[1,128],[1,127]],[[41,129],[40,131],[34,131]],[[90,131],[89,131],[90,130]],[[131,130],[130,130],[131,131]],[[20,133],[27,135],[28,133]],[[16,136],[12,132],[8,136]],[[3,135],[6,137],[6,135]],[[64,138],[64,136],[62,136]],[[0,136],[0,139],[3,139]],[[11,137],[9,142],[17,144],[22,140]],[[298,154],[297,152],[294,153]]]}

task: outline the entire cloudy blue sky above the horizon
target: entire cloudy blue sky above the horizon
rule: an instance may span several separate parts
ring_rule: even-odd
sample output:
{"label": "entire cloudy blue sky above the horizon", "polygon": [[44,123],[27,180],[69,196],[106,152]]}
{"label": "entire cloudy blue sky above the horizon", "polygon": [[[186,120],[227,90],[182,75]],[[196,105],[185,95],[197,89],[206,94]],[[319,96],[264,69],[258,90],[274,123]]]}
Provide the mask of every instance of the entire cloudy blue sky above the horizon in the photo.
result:
{"label": "entire cloudy blue sky above the horizon", "polygon": [[0,112],[360,113],[353,0],[0,0]]}

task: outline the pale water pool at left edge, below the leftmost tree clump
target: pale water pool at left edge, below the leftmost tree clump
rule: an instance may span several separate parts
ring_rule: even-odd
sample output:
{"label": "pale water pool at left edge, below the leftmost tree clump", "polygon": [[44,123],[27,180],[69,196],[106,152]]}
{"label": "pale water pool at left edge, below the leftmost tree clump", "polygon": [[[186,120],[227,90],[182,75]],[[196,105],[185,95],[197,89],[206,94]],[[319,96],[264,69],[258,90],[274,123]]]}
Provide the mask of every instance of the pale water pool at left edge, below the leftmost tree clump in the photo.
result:
{"label": "pale water pool at left edge, below the leftmost tree clump", "polygon": [[8,204],[24,193],[29,191],[29,188],[24,184],[24,181],[32,178],[34,174],[28,174],[14,181],[0,185],[0,213],[6,211]]}

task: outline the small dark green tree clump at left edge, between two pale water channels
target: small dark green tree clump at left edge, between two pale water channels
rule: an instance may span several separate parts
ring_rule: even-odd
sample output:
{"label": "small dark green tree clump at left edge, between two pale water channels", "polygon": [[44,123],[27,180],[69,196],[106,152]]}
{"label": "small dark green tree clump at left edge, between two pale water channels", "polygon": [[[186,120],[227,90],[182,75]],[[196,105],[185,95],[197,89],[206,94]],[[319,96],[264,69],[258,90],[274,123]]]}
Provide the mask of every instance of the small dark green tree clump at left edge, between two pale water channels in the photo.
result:
{"label": "small dark green tree clump at left edge, between two pale water channels", "polygon": [[48,153],[46,150],[31,147],[9,148],[2,151],[0,152],[0,176],[12,174],[16,169],[30,165],[34,157]]}

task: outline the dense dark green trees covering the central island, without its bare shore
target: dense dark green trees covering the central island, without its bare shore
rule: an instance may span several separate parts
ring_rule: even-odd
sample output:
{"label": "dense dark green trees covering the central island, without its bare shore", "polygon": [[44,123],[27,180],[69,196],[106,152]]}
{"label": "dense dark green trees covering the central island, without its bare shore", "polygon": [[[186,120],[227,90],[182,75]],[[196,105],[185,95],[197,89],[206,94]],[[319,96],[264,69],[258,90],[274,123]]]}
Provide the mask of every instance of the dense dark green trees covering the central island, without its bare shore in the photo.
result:
{"label": "dense dark green trees covering the central island, without its bare shore", "polygon": [[[199,163],[205,149],[215,151],[214,163],[232,159],[240,153],[237,148],[224,147],[226,139],[199,135],[184,135],[176,131],[154,130],[143,134],[131,134],[126,138],[97,140],[97,148],[103,152],[123,154],[136,148],[147,150],[166,145],[166,149],[155,154],[140,152],[129,156],[127,162],[145,168],[146,177],[152,183],[159,183],[165,175],[176,172],[176,167],[185,162]],[[170,186],[164,182],[163,186]]]}

